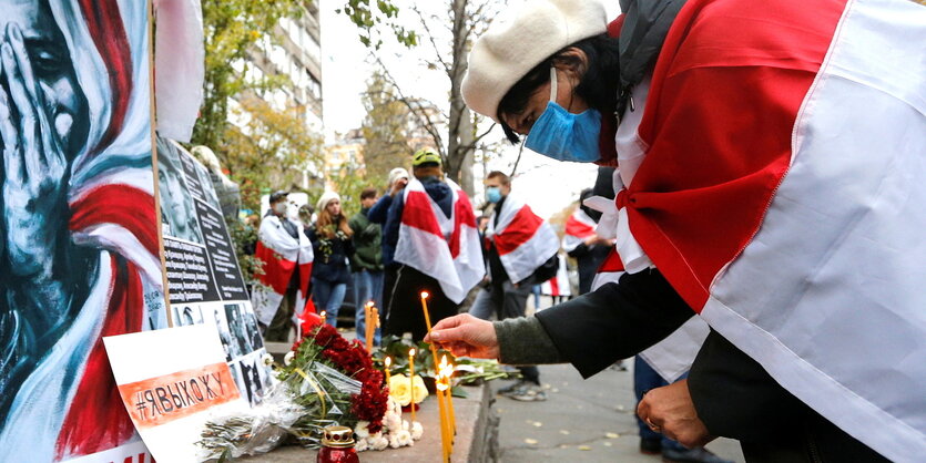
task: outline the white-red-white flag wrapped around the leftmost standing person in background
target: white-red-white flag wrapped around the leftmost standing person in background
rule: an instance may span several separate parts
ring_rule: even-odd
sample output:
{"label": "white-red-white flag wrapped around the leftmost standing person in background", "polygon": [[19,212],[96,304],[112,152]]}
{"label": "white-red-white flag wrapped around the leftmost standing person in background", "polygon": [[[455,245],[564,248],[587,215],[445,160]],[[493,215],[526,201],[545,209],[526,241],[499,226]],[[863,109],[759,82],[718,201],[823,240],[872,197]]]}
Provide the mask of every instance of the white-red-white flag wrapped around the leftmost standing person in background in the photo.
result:
{"label": "white-red-white flag wrapped around the leftmost standing person in background", "polygon": [[[284,220],[289,220],[284,218]],[[251,303],[257,320],[269,325],[279,309],[283,296],[289,287],[289,280],[298,267],[299,289],[296,296],[296,310],[293,320],[297,320],[308,299],[308,281],[312,277],[312,261],[315,255],[312,241],[302,232],[302,225],[295,224],[298,239],[293,238],[283,228],[279,217],[268,215],[261,222],[260,239],[255,257],[264,261],[264,275],[258,279],[264,287],[255,286],[251,291]]]}

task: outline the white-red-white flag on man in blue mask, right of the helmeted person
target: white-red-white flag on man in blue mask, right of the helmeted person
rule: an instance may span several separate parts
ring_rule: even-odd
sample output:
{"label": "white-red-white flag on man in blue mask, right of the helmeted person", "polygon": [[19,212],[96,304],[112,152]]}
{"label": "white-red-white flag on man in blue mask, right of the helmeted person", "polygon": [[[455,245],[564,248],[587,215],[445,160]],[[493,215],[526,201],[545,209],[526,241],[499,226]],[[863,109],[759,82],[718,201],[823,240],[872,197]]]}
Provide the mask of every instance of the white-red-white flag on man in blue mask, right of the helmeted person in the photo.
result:
{"label": "white-red-white flag on man in blue mask, right of the helmeted person", "polygon": [[508,195],[501,210],[489,217],[486,239],[495,243],[508,279],[513,282],[529,277],[559,251],[559,237],[553,227],[515,195]]}

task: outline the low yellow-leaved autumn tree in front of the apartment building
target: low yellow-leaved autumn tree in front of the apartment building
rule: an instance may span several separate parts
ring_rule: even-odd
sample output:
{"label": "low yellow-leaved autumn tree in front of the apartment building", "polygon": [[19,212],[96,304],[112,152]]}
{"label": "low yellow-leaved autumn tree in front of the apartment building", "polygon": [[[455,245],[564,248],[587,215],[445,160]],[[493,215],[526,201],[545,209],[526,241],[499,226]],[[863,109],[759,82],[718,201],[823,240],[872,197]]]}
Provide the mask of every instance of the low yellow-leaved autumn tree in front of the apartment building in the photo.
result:
{"label": "low yellow-leaved autumn tree in front of the apartment building", "polygon": [[242,206],[260,210],[265,188],[302,189],[306,172],[322,165],[322,138],[298,116],[304,109],[274,110],[256,97],[243,99],[236,115],[217,142],[216,154],[228,176],[241,186]]}

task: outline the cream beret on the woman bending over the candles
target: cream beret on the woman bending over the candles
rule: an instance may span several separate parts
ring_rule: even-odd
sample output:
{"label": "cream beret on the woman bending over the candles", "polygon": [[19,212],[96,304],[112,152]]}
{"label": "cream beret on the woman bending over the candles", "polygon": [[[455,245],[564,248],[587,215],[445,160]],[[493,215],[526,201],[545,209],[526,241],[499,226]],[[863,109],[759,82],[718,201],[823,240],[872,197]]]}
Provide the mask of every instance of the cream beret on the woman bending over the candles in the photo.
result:
{"label": "cream beret on the woman bending over the candles", "polygon": [[553,53],[608,30],[599,0],[528,0],[507,20],[497,18],[472,45],[462,81],[467,106],[498,121],[501,99]]}

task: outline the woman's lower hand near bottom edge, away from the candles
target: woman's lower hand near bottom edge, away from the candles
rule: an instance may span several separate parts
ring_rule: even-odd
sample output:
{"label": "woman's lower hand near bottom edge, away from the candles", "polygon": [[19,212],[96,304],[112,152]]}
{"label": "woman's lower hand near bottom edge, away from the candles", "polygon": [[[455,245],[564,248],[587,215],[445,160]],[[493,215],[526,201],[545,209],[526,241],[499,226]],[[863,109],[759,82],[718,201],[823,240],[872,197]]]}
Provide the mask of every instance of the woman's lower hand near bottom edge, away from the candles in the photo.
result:
{"label": "woman's lower hand near bottom edge, away from the candles", "polygon": [[653,431],[661,432],[689,449],[703,446],[715,438],[698,418],[688,390],[688,380],[647,392],[637,407],[637,414]]}

